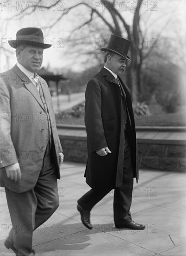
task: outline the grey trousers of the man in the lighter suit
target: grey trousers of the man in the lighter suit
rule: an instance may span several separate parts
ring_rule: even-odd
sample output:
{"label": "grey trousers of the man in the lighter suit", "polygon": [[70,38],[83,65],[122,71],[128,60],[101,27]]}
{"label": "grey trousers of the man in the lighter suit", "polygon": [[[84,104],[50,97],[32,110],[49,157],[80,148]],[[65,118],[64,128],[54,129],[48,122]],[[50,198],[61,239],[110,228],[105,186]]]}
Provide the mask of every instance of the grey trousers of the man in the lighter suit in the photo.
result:
{"label": "grey trousers of the man in the lighter suit", "polygon": [[9,239],[18,250],[19,256],[28,256],[32,253],[32,232],[44,223],[59,205],[56,171],[49,145],[36,186],[24,193],[14,193],[6,189],[6,199],[13,225]]}

